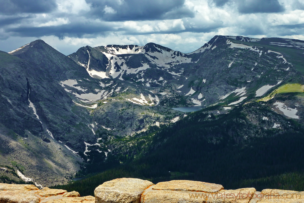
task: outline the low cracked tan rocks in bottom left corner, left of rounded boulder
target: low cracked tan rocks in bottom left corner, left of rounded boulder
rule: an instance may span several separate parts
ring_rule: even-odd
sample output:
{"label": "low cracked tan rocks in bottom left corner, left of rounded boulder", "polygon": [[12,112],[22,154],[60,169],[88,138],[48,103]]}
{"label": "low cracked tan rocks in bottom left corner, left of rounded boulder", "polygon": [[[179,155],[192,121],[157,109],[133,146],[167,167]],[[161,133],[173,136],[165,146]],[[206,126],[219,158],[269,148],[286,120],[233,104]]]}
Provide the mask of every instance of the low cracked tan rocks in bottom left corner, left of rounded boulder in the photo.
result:
{"label": "low cracked tan rocks in bottom left corner, left of rounded boulder", "polygon": [[0,203],[94,203],[95,197],[80,197],[76,191],[0,183]]}

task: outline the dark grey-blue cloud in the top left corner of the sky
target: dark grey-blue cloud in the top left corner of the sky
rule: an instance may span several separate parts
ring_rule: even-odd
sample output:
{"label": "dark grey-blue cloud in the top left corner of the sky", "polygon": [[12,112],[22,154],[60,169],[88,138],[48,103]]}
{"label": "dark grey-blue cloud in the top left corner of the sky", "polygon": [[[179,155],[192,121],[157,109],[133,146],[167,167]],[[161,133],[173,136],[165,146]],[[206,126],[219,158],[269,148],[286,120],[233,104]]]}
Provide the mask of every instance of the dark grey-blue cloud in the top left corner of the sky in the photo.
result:
{"label": "dark grey-blue cloud in the top left corner of the sky", "polygon": [[0,13],[47,13],[54,10],[55,0],[0,0]]}

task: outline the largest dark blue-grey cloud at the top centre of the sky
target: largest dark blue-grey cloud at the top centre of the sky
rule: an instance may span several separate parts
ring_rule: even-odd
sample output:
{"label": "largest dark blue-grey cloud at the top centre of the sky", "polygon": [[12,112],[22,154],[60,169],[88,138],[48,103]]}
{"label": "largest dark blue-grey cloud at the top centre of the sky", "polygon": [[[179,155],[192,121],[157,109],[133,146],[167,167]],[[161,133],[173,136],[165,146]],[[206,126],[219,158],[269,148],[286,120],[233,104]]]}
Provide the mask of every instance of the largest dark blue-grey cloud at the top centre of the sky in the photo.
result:
{"label": "largest dark blue-grey cloud at the top centre of the sky", "polygon": [[194,17],[185,0],[87,0],[92,14],[106,21],[180,19]]}

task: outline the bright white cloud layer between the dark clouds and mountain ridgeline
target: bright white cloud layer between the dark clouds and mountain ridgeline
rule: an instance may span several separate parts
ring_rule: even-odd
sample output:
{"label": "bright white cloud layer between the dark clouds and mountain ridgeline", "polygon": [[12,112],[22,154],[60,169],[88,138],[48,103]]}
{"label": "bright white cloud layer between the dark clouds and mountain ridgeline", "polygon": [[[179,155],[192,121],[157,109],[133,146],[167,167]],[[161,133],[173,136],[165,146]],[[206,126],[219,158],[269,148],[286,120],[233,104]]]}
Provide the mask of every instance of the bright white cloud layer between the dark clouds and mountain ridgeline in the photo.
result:
{"label": "bright white cloud layer between the dark clouds and mountain ridgeline", "polygon": [[[99,12],[109,16],[116,14],[120,8],[115,7],[115,4],[126,5],[123,0],[100,2],[108,2],[108,5],[103,4],[104,7],[101,7]],[[71,54],[86,45],[92,47],[107,44],[145,45],[149,42],[189,53],[203,46],[215,35],[245,35],[254,38],[286,37],[304,40],[303,28],[284,28],[285,25],[304,23],[304,12],[300,10],[301,5],[304,6],[304,0],[279,0],[279,3],[284,6],[284,12],[240,14],[237,5],[233,2],[216,7],[210,5],[210,0],[185,0],[185,7],[195,12],[193,18],[106,22],[101,17],[91,15],[93,6],[85,0],[57,0],[58,8],[55,11],[34,15],[16,14],[14,17],[24,19],[2,26],[0,50],[9,52],[37,39],[36,37],[12,37],[12,31],[7,30],[22,26],[43,29],[43,27],[66,24],[76,25],[80,31],[74,29],[71,33],[63,33],[62,40],[54,36],[57,34],[55,32],[55,34],[50,33],[50,36],[40,37],[64,54]],[[8,17],[10,16],[0,16],[1,19]],[[104,27],[110,27],[111,31],[104,31]],[[60,29],[58,32],[60,34]],[[42,33],[46,35],[45,32]],[[17,35],[22,35],[22,32],[19,31]],[[31,36],[36,36],[36,33]]]}

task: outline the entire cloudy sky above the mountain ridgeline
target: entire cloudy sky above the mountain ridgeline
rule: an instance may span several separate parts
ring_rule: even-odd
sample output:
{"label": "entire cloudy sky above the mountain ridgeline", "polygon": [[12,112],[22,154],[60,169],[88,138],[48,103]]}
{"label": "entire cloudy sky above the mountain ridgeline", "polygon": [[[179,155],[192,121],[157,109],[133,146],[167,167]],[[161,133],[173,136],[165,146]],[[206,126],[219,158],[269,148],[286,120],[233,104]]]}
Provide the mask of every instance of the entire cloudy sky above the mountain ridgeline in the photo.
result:
{"label": "entire cloudy sky above the mountain ridgeline", "polygon": [[304,0],[0,0],[0,50],[42,39],[82,46],[161,44],[192,52],[215,35],[304,40]]}

